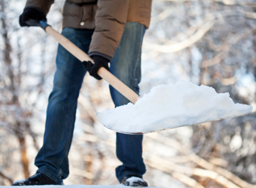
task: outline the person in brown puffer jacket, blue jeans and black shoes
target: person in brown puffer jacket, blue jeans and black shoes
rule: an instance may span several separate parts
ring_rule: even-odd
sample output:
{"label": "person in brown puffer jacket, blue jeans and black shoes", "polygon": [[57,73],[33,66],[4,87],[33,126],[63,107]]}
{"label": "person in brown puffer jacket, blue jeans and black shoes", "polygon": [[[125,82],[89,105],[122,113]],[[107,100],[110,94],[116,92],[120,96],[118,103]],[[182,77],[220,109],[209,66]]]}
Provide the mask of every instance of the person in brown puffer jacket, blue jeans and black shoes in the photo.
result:
{"label": "person in brown puffer jacket, blue jeans and black shoes", "polygon": [[[20,25],[29,19],[46,20],[54,0],[27,0]],[[81,63],[58,46],[53,91],[49,96],[44,143],[38,152],[37,173],[13,185],[60,185],[69,174],[70,149],[77,98],[86,71],[96,79],[105,67],[128,87],[139,93],[141,45],[149,26],[151,0],[66,0],[62,35],[89,54],[95,62]],[[110,63],[110,68],[108,67]],[[84,65],[84,67],[83,67]],[[115,106],[130,101],[110,86]],[[116,176],[123,185],[147,187],[142,159],[142,135],[117,133],[116,153],[123,162]]]}

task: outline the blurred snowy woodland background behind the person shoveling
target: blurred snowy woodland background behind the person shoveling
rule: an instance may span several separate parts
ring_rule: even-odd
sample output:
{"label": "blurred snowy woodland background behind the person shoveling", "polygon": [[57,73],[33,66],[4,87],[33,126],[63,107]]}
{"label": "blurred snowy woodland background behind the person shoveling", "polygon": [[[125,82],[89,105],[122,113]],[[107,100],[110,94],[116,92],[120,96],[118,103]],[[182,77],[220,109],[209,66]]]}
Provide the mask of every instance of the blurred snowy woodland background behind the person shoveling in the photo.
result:
{"label": "blurred snowy woodland background behind the person shoveling", "polygon": [[[61,31],[64,0],[48,23]],[[20,28],[24,0],[0,0],[0,185],[33,175],[42,145],[57,42],[41,28]],[[256,3],[153,0],[142,50],[140,94],[178,80],[229,92],[256,109]],[[115,133],[96,112],[113,108],[108,84],[86,75],[78,99],[66,185],[117,185]],[[146,134],[144,179],[161,188],[237,188],[256,184],[253,114]]]}

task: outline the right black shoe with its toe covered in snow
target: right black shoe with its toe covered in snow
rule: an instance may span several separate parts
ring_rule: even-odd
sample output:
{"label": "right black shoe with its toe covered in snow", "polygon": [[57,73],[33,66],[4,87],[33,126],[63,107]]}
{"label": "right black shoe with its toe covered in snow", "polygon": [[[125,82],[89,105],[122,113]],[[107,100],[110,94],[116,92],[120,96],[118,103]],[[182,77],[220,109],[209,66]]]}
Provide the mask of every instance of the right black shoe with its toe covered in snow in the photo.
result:
{"label": "right black shoe with its toe covered in snow", "polygon": [[135,175],[125,176],[120,183],[131,187],[148,187],[147,182],[145,182],[141,177]]}

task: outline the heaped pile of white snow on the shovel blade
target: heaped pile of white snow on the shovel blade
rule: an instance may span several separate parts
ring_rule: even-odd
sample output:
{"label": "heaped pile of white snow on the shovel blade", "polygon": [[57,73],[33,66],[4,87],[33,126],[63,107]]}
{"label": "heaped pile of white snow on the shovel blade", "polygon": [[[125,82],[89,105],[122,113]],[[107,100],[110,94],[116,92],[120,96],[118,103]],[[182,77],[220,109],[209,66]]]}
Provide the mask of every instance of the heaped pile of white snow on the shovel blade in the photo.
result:
{"label": "heaped pile of white snow on the shovel blade", "polygon": [[128,103],[98,113],[107,128],[123,133],[148,133],[241,116],[253,107],[235,104],[229,93],[217,93],[209,86],[188,81],[159,85],[135,104]]}

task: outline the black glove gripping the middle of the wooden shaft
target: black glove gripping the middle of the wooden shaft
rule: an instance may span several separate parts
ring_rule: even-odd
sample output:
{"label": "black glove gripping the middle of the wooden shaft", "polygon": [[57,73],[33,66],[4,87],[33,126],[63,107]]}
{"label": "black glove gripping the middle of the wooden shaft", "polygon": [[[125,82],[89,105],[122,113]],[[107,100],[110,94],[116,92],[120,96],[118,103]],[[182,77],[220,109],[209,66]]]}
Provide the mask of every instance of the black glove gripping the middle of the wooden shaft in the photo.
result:
{"label": "black glove gripping the middle of the wooden shaft", "polygon": [[91,61],[82,62],[84,65],[84,68],[90,73],[91,76],[93,76],[97,80],[101,80],[102,78],[97,74],[97,72],[101,67],[104,67],[109,71],[109,67],[108,67],[109,60],[99,55],[92,56],[92,59],[94,61],[94,64]]}

